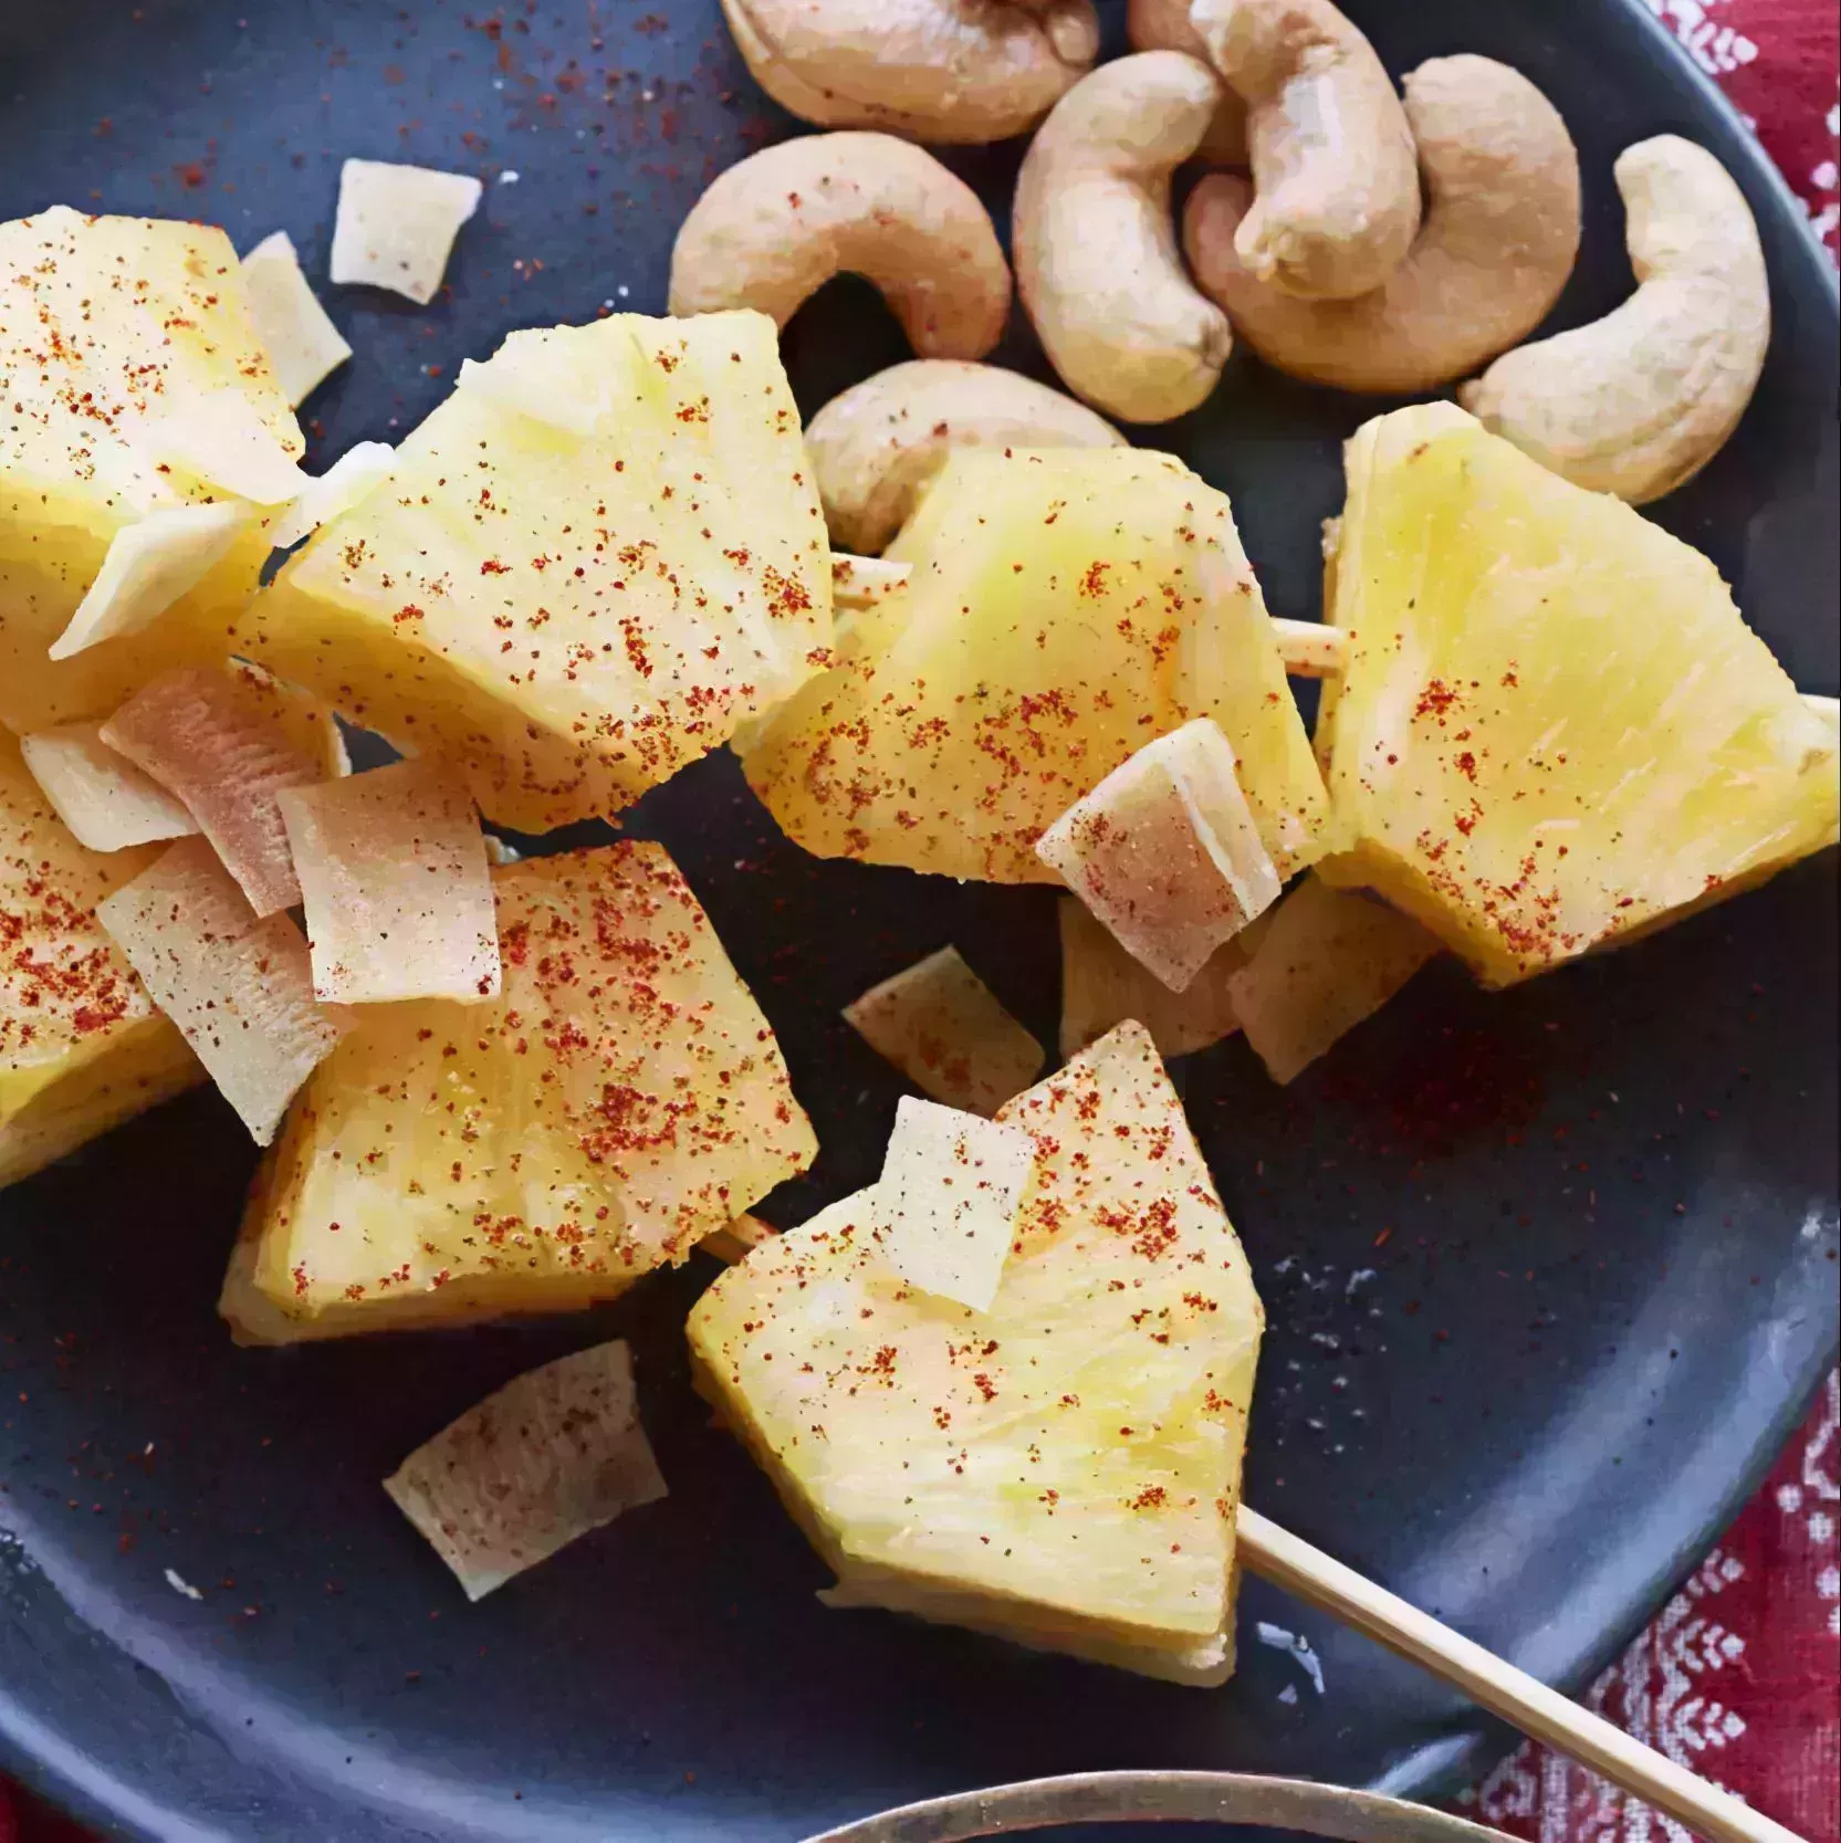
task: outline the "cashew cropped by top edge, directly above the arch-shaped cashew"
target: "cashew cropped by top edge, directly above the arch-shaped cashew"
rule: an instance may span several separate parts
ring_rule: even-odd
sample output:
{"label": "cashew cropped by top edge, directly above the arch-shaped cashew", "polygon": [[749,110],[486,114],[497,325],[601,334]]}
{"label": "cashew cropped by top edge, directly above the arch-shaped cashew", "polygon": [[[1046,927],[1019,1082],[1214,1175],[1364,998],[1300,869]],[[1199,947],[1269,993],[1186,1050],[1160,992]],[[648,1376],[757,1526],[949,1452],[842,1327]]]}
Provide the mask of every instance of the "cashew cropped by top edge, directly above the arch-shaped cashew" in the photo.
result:
{"label": "cashew cropped by top edge, directly above the arch-shaped cashew", "polygon": [[722,0],[754,81],[820,127],[1006,140],[1100,50],[1093,0]]}

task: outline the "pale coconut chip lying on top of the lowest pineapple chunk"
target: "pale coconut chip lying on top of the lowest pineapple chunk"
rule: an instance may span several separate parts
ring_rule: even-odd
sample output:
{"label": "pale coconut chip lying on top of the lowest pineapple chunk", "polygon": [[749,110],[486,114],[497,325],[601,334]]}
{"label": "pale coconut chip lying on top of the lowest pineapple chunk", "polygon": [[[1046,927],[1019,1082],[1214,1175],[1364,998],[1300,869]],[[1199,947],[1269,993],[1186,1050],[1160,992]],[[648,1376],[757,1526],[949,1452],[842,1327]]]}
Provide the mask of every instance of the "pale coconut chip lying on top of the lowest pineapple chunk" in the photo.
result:
{"label": "pale coconut chip lying on top of the lowest pineapple chunk", "polygon": [[921,1292],[988,1312],[1034,1168],[1021,1126],[903,1095],[872,1205],[883,1259]]}

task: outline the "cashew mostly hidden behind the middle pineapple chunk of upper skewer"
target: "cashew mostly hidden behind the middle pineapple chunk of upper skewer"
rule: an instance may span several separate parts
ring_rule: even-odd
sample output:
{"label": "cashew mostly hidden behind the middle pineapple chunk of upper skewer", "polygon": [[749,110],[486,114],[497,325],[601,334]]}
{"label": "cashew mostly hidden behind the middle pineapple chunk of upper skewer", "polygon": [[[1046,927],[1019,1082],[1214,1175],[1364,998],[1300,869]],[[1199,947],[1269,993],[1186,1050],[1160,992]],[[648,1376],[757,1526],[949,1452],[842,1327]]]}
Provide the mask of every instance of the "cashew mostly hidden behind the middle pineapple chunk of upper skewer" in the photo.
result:
{"label": "cashew mostly hidden behind the middle pineapple chunk of upper skewer", "polygon": [[1113,448],[1085,404],[995,365],[921,358],[833,396],[805,426],[818,498],[840,551],[879,551],[955,448]]}

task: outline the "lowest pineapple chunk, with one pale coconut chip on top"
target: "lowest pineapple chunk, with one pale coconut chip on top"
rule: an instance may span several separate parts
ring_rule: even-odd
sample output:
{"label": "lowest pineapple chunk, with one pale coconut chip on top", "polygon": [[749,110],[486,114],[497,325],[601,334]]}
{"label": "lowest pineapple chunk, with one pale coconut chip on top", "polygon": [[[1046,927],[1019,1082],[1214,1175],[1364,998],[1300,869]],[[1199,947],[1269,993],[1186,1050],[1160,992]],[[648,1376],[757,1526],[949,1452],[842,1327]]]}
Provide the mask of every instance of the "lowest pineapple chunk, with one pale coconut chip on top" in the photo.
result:
{"label": "lowest pineapple chunk, with one pale coconut chip on top", "polygon": [[833,1603],[1220,1683],[1262,1327],[1246,1255],[1137,1025],[1003,1119],[1038,1156],[988,1312],[903,1285],[859,1191],[704,1294],[698,1386]]}

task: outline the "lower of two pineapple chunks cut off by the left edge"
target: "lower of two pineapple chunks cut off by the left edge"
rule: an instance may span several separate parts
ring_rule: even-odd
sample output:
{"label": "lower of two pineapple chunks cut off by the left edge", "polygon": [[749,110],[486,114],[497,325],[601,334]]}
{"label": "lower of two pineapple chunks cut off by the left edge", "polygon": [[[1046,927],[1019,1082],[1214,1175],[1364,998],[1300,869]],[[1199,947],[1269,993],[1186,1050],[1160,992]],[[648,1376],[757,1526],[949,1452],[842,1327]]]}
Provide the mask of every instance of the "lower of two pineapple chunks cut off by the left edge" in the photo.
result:
{"label": "lower of two pineapple chunks cut off by the left edge", "polygon": [[96,920],[155,855],[77,844],[0,735],[0,1185],[205,1078]]}

